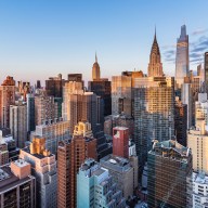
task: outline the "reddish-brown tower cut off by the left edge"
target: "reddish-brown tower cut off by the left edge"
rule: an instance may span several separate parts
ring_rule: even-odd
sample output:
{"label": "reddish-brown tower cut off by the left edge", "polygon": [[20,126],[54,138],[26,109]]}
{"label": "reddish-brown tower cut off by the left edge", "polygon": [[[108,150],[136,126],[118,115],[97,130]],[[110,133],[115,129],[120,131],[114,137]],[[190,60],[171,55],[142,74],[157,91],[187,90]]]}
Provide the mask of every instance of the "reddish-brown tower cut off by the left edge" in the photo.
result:
{"label": "reddish-brown tower cut off by the left edge", "polygon": [[10,127],[10,105],[15,103],[15,81],[13,77],[6,77],[0,86],[0,127]]}

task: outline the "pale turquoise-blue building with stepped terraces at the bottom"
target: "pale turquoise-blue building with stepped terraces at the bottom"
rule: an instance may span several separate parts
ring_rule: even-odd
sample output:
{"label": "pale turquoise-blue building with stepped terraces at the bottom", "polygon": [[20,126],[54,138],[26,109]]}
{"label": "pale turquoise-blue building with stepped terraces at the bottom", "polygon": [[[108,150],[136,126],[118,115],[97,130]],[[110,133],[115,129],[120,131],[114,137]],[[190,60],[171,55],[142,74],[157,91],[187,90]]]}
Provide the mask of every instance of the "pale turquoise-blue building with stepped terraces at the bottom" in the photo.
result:
{"label": "pale turquoise-blue building with stepped terraces at the bottom", "polygon": [[86,159],[77,173],[77,208],[126,208],[126,199],[109,171]]}

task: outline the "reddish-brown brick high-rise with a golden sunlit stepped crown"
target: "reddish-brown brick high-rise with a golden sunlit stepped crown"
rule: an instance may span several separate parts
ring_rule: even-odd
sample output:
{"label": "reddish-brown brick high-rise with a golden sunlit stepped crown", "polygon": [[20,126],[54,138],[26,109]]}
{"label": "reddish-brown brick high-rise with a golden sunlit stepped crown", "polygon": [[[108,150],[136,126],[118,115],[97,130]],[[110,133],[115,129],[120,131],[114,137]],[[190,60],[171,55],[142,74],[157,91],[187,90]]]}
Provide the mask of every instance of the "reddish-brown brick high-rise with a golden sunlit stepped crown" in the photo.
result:
{"label": "reddish-brown brick high-rise with a golden sunlit stepped crown", "polygon": [[89,122],[75,127],[72,140],[57,147],[57,207],[76,207],[77,172],[86,158],[96,159],[96,140]]}

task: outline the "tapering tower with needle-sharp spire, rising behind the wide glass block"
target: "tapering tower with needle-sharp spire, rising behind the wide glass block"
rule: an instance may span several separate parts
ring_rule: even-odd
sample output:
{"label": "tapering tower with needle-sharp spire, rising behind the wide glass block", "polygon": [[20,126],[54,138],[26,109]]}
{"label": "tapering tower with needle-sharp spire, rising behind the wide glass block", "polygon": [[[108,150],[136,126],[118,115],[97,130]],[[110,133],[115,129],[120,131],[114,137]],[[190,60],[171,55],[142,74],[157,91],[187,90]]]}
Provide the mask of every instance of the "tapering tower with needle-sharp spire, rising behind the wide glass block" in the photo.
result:
{"label": "tapering tower with needle-sharp spire, rising behind the wide glass block", "polygon": [[162,64],[155,29],[155,37],[150,55],[148,77],[162,77],[162,76],[164,76]]}

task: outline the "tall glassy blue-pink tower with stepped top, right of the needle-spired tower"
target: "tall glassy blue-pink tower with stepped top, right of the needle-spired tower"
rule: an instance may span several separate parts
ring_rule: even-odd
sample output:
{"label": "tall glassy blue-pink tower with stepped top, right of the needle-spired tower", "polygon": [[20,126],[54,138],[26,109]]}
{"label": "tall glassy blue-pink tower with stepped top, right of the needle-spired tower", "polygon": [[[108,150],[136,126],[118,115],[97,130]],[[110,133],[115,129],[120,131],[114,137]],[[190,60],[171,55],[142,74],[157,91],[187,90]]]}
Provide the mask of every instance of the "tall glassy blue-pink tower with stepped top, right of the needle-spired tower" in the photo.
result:
{"label": "tall glassy blue-pink tower with stepped top, right of the needle-spired tower", "polygon": [[177,57],[176,57],[176,81],[177,87],[181,88],[184,83],[184,77],[190,76],[190,56],[188,56],[188,36],[186,35],[186,26],[181,26],[181,35],[177,40]]}

